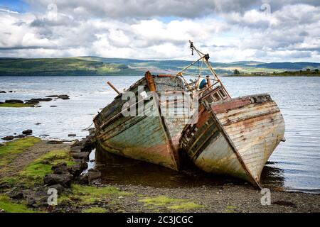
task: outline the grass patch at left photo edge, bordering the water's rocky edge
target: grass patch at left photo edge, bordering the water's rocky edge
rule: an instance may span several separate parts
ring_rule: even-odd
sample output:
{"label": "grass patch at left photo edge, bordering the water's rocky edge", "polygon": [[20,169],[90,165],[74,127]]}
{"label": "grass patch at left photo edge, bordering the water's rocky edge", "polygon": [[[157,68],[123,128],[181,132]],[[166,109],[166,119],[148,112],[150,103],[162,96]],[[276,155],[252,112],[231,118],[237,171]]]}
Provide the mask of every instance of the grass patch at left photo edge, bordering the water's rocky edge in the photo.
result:
{"label": "grass patch at left photo edge, bordering the water's rocky edge", "polygon": [[23,153],[23,150],[30,148],[40,140],[36,137],[26,137],[4,143],[4,146],[0,147],[0,166],[9,164],[16,155]]}

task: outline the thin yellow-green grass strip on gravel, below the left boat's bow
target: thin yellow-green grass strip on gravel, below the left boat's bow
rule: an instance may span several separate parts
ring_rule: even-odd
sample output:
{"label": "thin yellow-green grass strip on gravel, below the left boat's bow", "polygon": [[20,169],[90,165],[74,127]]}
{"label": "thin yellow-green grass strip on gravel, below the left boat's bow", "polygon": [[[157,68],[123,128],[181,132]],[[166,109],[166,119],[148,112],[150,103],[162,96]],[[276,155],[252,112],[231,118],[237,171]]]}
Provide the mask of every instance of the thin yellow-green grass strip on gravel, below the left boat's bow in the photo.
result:
{"label": "thin yellow-green grass strip on gravel, below the left boat's bow", "polygon": [[193,201],[188,201],[188,199],[173,199],[167,196],[146,197],[138,201],[144,202],[145,206],[161,206],[176,210],[190,210],[203,207],[195,204]]}

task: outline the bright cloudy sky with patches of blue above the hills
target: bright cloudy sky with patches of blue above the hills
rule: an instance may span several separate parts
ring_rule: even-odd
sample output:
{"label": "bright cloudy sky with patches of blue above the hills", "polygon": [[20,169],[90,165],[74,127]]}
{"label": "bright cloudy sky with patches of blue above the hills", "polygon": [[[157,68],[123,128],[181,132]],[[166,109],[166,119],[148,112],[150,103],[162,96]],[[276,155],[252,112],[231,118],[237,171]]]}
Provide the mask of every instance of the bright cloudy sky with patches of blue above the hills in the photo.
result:
{"label": "bright cloudy sky with patches of blue above the hills", "polygon": [[[281,3],[280,3],[281,2]],[[0,0],[0,57],[320,62],[319,0]]]}

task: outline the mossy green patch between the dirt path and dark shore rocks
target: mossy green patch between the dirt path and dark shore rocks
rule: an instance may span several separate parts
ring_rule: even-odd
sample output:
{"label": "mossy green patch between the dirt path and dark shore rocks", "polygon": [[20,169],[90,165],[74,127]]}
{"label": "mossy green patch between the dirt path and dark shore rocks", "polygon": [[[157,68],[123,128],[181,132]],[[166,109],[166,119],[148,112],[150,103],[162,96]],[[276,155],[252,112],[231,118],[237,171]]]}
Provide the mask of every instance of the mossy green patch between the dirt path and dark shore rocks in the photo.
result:
{"label": "mossy green patch between the dirt path and dark shore rocks", "polygon": [[66,162],[67,165],[74,165],[72,157],[69,154],[69,150],[51,150],[50,152],[42,155],[33,162],[29,163],[24,170],[20,172],[20,176],[26,179],[28,182],[32,180],[35,183],[41,183],[43,177],[52,173],[52,166],[59,162]]}

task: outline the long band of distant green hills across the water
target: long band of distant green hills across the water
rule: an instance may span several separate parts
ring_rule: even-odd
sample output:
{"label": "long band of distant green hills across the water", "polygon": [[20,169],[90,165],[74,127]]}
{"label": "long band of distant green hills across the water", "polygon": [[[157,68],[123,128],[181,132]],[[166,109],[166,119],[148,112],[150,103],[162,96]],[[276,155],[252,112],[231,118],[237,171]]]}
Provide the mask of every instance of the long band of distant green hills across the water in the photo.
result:
{"label": "long band of distant green hills across the water", "polygon": [[[105,58],[95,56],[61,57],[61,58],[9,58],[0,57],[0,76],[103,76],[103,75],[143,75],[146,70],[151,73],[175,74],[191,61],[186,60],[135,60],[122,58]],[[211,62],[215,72],[221,75],[240,73],[284,72],[320,69],[315,62]],[[196,72],[201,62],[191,67]],[[204,71],[203,74],[208,72]]]}

